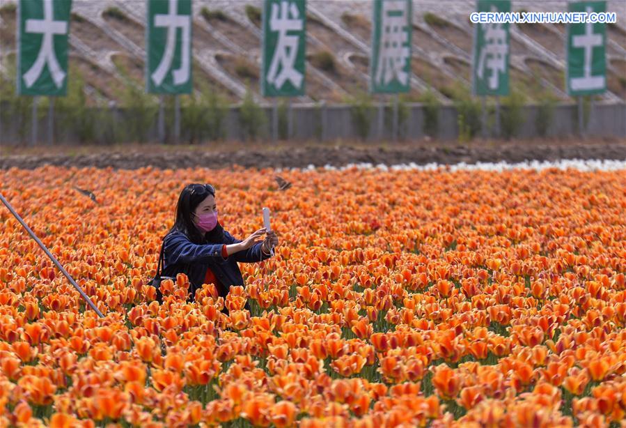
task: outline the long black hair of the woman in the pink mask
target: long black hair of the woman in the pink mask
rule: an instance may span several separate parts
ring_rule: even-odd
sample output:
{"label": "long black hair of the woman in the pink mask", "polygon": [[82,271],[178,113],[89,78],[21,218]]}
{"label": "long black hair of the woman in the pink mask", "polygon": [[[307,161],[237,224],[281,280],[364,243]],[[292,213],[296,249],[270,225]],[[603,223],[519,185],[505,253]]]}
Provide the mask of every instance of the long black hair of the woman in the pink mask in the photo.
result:
{"label": "long black hair of the woman in the pink mask", "polygon": [[192,243],[222,243],[224,242],[224,228],[217,221],[213,230],[202,233],[193,220],[191,220],[191,213],[204,201],[209,194],[215,197],[215,189],[210,184],[198,184],[191,183],[185,186],[180,192],[178,197],[178,204],[176,204],[176,220],[173,227],[169,230],[168,234],[175,231],[180,231],[187,235]]}

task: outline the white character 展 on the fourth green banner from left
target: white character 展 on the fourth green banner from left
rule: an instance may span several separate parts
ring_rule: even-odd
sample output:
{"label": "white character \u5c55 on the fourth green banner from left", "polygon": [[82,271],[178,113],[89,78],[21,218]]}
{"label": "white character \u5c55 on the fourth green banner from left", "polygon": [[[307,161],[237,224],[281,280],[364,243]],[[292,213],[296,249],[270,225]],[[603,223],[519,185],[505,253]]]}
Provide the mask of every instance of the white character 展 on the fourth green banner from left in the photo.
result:
{"label": "white character \u5c55 on the fourth green banner from left", "polygon": [[405,70],[409,61],[409,33],[407,1],[383,1],[382,22],[376,67],[376,82],[389,84],[394,78],[403,85],[409,82],[409,73]]}

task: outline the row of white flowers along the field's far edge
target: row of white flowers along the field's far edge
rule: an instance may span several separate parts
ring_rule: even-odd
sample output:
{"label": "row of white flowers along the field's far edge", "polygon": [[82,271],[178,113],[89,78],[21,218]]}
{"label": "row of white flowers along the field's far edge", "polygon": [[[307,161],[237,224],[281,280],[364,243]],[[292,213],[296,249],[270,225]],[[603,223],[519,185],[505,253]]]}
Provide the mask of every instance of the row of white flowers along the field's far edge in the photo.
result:
{"label": "row of white flowers along the field's far edge", "polygon": [[[378,164],[374,166],[372,163],[349,163],[343,167],[333,167],[332,165],[324,165],[323,169],[327,171],[344,171],[351,168],[357,169],[379,169],[381,171],[435,171],[437,169],[444,169],[446,171],[506,171],[510,169],[534,169],[540,171],[542,169],[557,168],[561,170],[565,169],[578,169],[579,171],[617,171],[626,169],[626,160],[583,160],[583,159],[563,159],[555,162],[544,160],[542,162],[538,160],[524,161],[519,163],[501,162],[477,162],[475,164],[467,164],[460,162],[455,165],[437,164],[436,162],[430,162],[426,165],[417,165],[415,162],[409,164],[391,165],[390,167],[384,164]],[[306,168],[277,168],[276,172],[280,171],[317,171],[322,167],[316,168],[315,165],[310,164]]]}

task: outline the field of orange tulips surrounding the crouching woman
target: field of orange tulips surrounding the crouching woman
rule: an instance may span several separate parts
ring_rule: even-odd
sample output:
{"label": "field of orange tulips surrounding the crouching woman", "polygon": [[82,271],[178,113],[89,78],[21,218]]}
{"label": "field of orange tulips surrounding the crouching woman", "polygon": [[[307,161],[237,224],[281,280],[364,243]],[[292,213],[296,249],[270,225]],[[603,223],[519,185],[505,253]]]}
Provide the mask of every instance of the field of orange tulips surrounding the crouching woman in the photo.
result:
{"label": "field of orange tulips surrounding the crouching woman", "polygon": [[[626,170],[279,174],[1,170],[0,427],[626,427]],[[280,243],[159,305],[187,183]]]}

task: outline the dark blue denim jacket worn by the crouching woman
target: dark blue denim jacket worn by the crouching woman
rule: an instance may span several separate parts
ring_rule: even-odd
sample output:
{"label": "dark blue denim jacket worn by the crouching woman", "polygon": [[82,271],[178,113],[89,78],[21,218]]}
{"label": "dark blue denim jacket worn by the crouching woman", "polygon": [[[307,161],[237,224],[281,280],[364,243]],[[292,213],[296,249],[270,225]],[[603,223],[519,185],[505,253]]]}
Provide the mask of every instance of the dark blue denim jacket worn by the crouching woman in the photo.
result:
{"label": "dark blue denim jacket worn by the crouching woman", "polygon": [[244,285],[237,261],[241,263],[256,263],[269,259],[274,255],[263,254],[262,243],[255,244],[247,250],[221,256],[221,249],[224,244],[230,245],[240,243],[242,240],[234,238],[228,231],[224,231],[226,239],[222,243],[194,244],[187,235],[180,231],[168,234],[164,238],[163,246],[163,272],[162,276],[176,277],[178,273],[185,273],[189,277],[189,292],[191,298],[195,296],[196,289],[201,288],[207,268],[211,268],[215,277],[224,284],[225,290],[218,290],[219,295],[226,298],[230,285]]}

